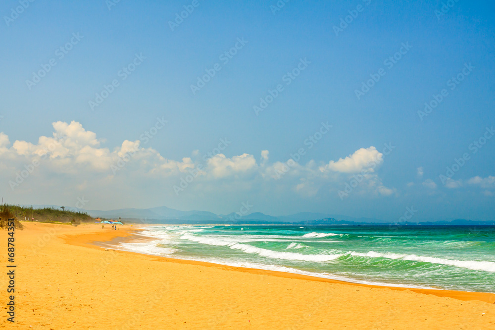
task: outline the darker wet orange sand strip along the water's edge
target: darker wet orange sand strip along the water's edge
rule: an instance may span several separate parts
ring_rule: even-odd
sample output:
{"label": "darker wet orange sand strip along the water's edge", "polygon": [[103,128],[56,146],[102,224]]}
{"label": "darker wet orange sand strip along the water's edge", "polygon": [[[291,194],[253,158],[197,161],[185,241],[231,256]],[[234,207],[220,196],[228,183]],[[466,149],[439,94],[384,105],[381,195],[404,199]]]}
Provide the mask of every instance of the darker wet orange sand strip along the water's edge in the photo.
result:
{"label": "darker wet orange sand strip along the water's edge", "polygon": [[[147,225],[147,227],[148,226],[149,225]],[[167,225],[167,226],[169,226],[169,225]],[[177,225],[177,226],[181,226],[181,225]],[[111,247],[111,246],[116,246],[119,243],[135,243],[135,242],[154,240],[154,238],[151,236],[145,236],[145,235],[138,233],[140,231],[146,230],[145,228],[129,228],[128,230],[126,230],[126,234],[125,234],[126,236],[115,236],[110,241],[92,240],[93,238],[95,238],[95,236],[90,234],[90,235],[86,236],[86,239],[92,240],[92,241],[87,242],[87,243],[82,243],[82,246],[86,245],[86,246],[90,246],[93,248],[94,247],[104,248],[105,246],[103,246],[103,245],[105,245],[105,244],[108,245],[106,247]],[[66,240],[65,242],[68,244],[72,244],[72,242],[69,240]],[[448,298],[458,299],[458,300],[462,300],[462,301],[478,300],[478,301],[483,301],[486,303],[495,303],[495,293],[491,293],[491,292],[457,291],[457,290],[445,290],[442,288],[438,288],[438,289],[437,288],[414,288],[414,287],[406,287],[406,286],[393,286],[393,285],[379,285],[379,284],[348,282],[348,281],[334,280],[334,279],[328,279],[328,278],[323,278],[323,277],[290,273],[290,272],[283,272],[283,271],[229,266],[229,265],[225,265],[225,264],[217,264],[217,263],[206,262],[206,261],[163,257],[163,256],[157,256],[154,254],[132,252],[132,251],[127,251],[127,250],[118,249],[118,248],[115,248],[115,250],[125,252],[125,253],[132,253],[132,254],[138,254],[138,255],[146,255],[148,257],[154,257],[158,261],[175,262],[175,263],[179,263],[179,264],[201,265],[201,266],[217,267],[217,268],[223,268],[223,269],[227,268],[229,270],[234,270],[234,271],[238,271],[238,272],[247,272],[250,274],[265,274],[265,275],[269,274],[269,275],[282,277],[282,278],[308,280],[308,281],[325,282],[325,283],[338,283],[338,284],[346,284],[346,285],[357,285],[357,286],[364,286],[364,287],[370,287],[370,288],[388,288],[388,289],[399,290],[399,291],[410,290],[410,291],[415,292],[415,293],[432,294],[432,295],[435,295],[438,297],[448,297]]]}

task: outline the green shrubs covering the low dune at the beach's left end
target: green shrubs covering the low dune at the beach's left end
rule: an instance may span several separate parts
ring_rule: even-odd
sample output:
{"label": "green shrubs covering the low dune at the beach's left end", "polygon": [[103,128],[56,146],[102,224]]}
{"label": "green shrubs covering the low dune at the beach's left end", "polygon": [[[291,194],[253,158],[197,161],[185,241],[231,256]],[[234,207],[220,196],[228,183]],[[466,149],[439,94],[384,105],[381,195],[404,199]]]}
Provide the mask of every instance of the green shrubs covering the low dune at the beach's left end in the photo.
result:
{"label": "green shrubs covering the low dune at the beach's left end", "polygon": [[[95,219],[86,212],[74,212],[61,210],[56,208],[45,207],[42,209],[33,209],[33,207],[24,207],[19,205],[1,205],[2,210],[7,210],[11,214],[11,218],[20,221],[37,222],[93,222]],[[1,217],[1,213],[0,213]],[[3,218],[3,217],[2,217]],[[3,221],[3,220],[2,220]]]}

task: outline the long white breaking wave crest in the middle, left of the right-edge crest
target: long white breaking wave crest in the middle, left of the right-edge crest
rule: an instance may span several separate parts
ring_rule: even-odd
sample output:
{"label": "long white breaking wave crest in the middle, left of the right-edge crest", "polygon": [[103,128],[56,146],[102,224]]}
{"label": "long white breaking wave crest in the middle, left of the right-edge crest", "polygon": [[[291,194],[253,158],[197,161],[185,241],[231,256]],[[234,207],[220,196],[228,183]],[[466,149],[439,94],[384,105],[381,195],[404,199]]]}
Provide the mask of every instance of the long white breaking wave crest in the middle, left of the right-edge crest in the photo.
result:
{"label": "long white breaking wave crest in the middle, left of the right-edge crest", "polygon": [[183,239],[187,239],[193,242],[215,245],[215,246],[228,246],[233,250],[241,250],[245,253],[253,253],[262,257],[274,258],[274,259],[286,259],[286,260],[300,260],[300,261],[314,261],[314,262],[324,262],[335,260],[341,257],[343,254],[301,254],[295,252],[278,252],[273,250],[267,250],[260,247],[242,244],[237,242],[226,241],[217,238],[206,238],[198,237],[190,234],[185,234],[181,236]]}

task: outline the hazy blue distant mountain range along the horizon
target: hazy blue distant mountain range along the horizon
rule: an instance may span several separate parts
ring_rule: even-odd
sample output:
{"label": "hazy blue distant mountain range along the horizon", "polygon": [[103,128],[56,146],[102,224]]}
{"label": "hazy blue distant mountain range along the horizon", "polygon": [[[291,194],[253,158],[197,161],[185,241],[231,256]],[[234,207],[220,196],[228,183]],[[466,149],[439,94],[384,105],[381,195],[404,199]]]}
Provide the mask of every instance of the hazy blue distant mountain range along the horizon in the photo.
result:
{"label": "hazy blue distant mountain range along the horizon", "polygon": [[[23,205],[34,208],[55,207],[55,205]],[[66,207],[66,209],[71,209]],[[254,212],[244,216],[236,213],[218,215],[207,211],[180,211],[166,206],[152,207],[148,209],[125,208],[110,211],[83,210],[92,217],[104,219],[118,219],[131,223],[146,224],[293,224],[293,225],[495,225],[495,221],[453,220],[437,222],[403,222],[391,223],[373,218],[353,218],[345,215],[332,215],[326,213],[300,212],[285,216],[271,216],[261,212]]]}

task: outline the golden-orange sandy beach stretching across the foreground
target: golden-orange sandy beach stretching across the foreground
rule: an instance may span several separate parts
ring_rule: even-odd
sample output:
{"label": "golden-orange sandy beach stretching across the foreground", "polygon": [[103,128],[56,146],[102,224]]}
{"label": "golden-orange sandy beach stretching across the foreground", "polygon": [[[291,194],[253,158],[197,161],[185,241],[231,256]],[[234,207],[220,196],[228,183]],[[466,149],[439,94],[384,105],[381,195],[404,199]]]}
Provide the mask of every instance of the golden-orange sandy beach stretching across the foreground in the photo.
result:
{"label": "golden-orange sandy beach stretching across the foreground", "polygon": [[2,275],[0,328],[495,329],[495,294],[342,283],[98,243],[139,238],[129,226],[23,224],[15,233],[15,324]]}

